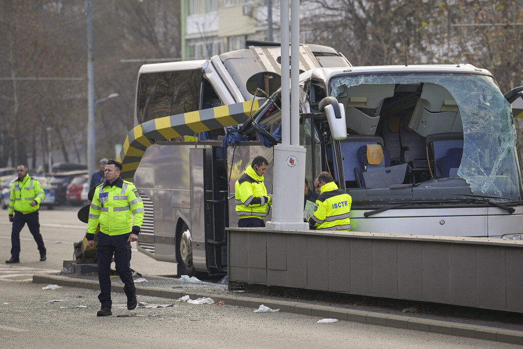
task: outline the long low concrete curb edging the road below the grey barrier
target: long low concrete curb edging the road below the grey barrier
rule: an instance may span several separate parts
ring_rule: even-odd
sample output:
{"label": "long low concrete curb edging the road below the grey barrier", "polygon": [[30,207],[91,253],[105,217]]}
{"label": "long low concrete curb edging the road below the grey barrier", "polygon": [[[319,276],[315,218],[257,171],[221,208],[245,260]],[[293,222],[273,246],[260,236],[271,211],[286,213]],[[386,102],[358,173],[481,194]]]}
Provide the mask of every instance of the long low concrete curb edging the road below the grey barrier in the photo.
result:
{"label": "long low concrete curb edging the road below the grey barrier", "polygon": [[[73,279],[68,276],[39,274],[33,275],[33,284],[56,284],[60,286],[79,287],[87,289],[99,289],[96,280]],[[112,291],[123,292],[121,285],[112,285]],[[224,303],[233,306],[258,308],[260,304],[280,311],[316,316],[321,318],[335,318],[360,323],[368,323],[385,327],[433,332],[440,334],[470,337],[487,341],[496,341],[510,344],[523,345],[523,331],[497,329],[486,326],[454,323],[449,321],[419,319],[408,316],[383,314],[378,312],[361,311],[337,307],[327,307],[308,303],[278,301],[251,297],[227,297],[210,295],[201,292],[182,292],[153,287],[136,287],[138,295],[178,299],[189,295],[191,299],[199,297],[212,297],[216,302],[223,300]]]}

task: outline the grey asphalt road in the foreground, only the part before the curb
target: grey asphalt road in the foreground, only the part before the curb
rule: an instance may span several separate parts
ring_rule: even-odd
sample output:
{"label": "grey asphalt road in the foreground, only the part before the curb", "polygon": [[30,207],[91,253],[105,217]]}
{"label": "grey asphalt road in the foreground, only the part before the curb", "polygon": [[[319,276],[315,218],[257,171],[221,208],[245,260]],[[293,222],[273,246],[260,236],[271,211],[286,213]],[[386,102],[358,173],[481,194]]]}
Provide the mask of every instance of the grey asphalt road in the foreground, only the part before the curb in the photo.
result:
{"label": "grey asphalt road in the foreground, only the part before the curb", "polygon": [[[316,317],[255,313],[250,308],[228,305],[174,302],[173,307],[129,311],[121,293],[113,296],[113,316],[98,318],[97,294],[83,288],[42,290],[38,284],[0,281],[2,347],[515,347],[350,321],[322,324]],[[139,301],[150,305],[173,303],[172,299],[149,296],[141,296]]]}

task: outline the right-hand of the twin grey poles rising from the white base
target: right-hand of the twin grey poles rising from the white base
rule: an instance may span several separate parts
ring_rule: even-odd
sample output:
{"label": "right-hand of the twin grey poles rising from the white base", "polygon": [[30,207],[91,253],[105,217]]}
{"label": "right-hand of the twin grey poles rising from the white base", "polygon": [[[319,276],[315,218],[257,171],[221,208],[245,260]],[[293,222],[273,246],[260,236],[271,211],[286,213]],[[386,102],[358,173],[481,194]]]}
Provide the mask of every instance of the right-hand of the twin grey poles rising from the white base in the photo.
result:
{"label": "right-hand of the twin grey poles rising from the white base", "polygon": [[300,145],[300,10],[291,0],[291,145]]}

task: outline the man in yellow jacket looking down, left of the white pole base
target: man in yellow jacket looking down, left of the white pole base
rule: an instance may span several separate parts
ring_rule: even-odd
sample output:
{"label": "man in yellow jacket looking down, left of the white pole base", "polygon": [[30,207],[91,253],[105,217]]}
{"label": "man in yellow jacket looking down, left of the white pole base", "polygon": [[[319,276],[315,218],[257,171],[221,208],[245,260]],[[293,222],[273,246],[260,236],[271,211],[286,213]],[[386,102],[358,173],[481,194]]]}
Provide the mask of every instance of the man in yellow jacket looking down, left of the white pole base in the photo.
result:
{"label": "man in yellow jacket looking down, left of the white pole base", "polygon": [[263,175],[269,162],[263,156],[256,156],[251,165],[234,185],[238,227],[265,227],[264,217],[272,205],[272,194],[267,194]]}

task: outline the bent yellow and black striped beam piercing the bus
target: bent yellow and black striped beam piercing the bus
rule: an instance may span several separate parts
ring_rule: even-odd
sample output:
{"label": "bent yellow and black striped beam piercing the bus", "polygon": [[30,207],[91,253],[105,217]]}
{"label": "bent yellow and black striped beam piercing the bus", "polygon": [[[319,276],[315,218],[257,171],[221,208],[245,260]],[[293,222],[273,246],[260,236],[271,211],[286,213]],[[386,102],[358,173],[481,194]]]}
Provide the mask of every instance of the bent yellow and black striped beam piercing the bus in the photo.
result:
{"label": "bent yellow and black striped beam piercing the bus", "polygon": [[166,141],[189,134],[238,125],[249,118],[251,107],[254,113],[263,103],[265,103],[265,99],[256,99],[254,102],[249,100],[165,116],[138,125],[127,134],[118,156],[118,161],[123,165],[120,176],[126,181],[131,181],[145,150],[156,141]]}

